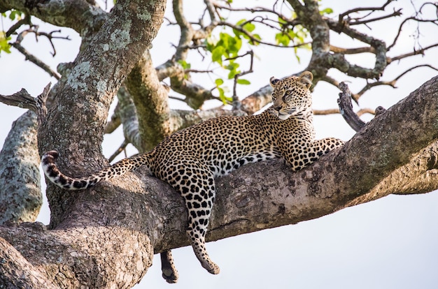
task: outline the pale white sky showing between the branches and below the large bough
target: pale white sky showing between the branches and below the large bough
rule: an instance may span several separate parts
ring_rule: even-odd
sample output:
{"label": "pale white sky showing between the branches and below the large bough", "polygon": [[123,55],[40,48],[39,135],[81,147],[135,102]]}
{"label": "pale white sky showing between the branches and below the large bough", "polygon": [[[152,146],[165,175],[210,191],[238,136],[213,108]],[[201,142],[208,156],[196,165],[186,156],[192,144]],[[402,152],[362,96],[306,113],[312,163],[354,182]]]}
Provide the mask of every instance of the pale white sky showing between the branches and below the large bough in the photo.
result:
{"label": "pale white sky showing between the branches and below the large bough", "polygon": [[[334,15],[337,15],[357,6],[353,2],[337,0],[322,3],[327,3],[325,5],[333,8]],[[380,6],[383,2],[385,1],[372,0],[367,1],[367,5]],[[402,2],[405,5],[404,16],[412,13],[409,2]],[[261,5],[262,1],[257,1],[256,4]],[[397,2],[396,4],[400,5]],[[190,6],[193,20],[197,20],[201,13],[197,8],[197,5]],[[189,8],[186,7],[185,10],[189,11]],[[392,12],[392,8],[387,8],[387,11]],[[169,12],[170,6],[168,15]],[[400,21],[402,18],[399,17],[397,23]],[[397,23],[388,21],[384,24],[372,24],[372,30],[363,31],[389,43],[397,31]],[[8,29],[9,22],[3,20],[3,25]],[[40,29],[52,30],[43,25]],[[413,44],[409,36],[415,31],[415,25],[408,25],[404,31],[406,33],[399,40],[400,47],[390,52],[390,56],[411,51]],[[435,27],[421,30],[424,36],[421,44],[426,46],[436,40],[437,31]],[[80,43],[78,34],[71,29],[62,28],[62,35],[69,35],[72,40],[57,40],[57,55],[54,58],[46,40],[35,43],[32,37],[28,37],[24,46],[55,69],[60,62],[72,61],[76,57]],[[151,50],[155,66],[162,64],[174,52],[171,43],[177,43],[178,39],[170,37],[173,35],[178,36],[176,27],[168,27],[164,22]],[[340,38],[336,34],[332,35],[332,40],[337,41],[337,46],[355,45],[349,39]],[[41,68],[24,61],[19,52],[13,48],[11,50],[11,54],[0,54],[0,94],[13,94],[24,88],[32,96],[37,96],[48,82],[56,82],[41,71]],[[298,63],[290,55],[290,51],[267,47],[256,47],[255,54],[258,58],[255,60],[254,73],[246,77],[251,85],[240,87],[240,96],[247,96],[263,87],[271,76],[285,77],[302,71],[310,57],[308,52],[300,52],[301,62]],[[382,79],[391,80],[404,69],[416,64],[438,67],[436,55],[435,49],[425,57],[417,56],[411,61],[403,61],[400,66],[393,64],[385,71]],[[192,62],[192,68],[196,68],[200,57],[192,56],[198,59]],[[367,67],[374,64],[371,56],[348,59]],[[365,84],[337,71],[330,71],[329,75],[339,81],[350,81],[348,84],[352,91],[358,91]],[[435,75],[437,73],[429,68],[420,68],[402,77],[397,82],[397,89],[378,87],[369,91],[362,96],[360,108],[376,108],[378,105],[389,108]],[[202,81],[206,87],[212,86],[210,77],[204,77]],[[337,89],[328,84],[318,84],[313,92],[313,108],[336,108],[338,93]],[[181,103],[172,105],[178,105],[179,108]],[[0,113],[0,143],[3,143],[10,125],[24,110],[0,103]],[[348,140],[354,135],[354,131],[339,115],[316,116],[314,119],[317,138],[333,136]],[[122,140],[120,128],[117,133],[106,136],[104,154],[111,156]],[[130,147],[129,154],[134,153],[135,150]],[[45,201],[38,221],[47,224],[49,216],[50,211]],[[297,225],[210,242],[207,249],[221,269],[217,276],[206,272],[199,265],[191,247],[185,247],[174,250],[180,278],[177,284],[169,285],[161,277],[160,259],[155,255],[154,265],[136,288],[437,288],[437,219],[438,192],[392,195]]]}

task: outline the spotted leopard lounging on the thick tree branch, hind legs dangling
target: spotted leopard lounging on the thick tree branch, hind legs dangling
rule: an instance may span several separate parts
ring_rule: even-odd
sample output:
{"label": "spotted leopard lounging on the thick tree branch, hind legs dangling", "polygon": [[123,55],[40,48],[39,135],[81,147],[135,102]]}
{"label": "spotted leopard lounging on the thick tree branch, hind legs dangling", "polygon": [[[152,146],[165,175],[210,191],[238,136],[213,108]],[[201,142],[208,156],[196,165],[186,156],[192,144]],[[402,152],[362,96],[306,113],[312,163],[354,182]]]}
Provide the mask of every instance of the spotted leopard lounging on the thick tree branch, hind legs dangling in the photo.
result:
{"label": "spotted leopard lounging on the thick tree branch, hind legs dangling", "polygon": [[[41,158],[45,176],[67,190],[90,188],[99,181],[120,177],[145,166],[150,175],[166,181],[185,200],[188,240],[202,267],[211,274],[220,269],[206,250],[206,232],[216,198],[215,178],[247,163],[283,158],[292,171],[311,165],[341,147],[337,138],[316,140],[311,85],[313,74],[283,79],[271,77],[272,105],[260,114],[208,119],[169,135],[155,148],[124,158],[88,177],[68,177],[56,165],[57,151]],[[162,276],[175,283],[178,272],[171,251],[161,253]]]}

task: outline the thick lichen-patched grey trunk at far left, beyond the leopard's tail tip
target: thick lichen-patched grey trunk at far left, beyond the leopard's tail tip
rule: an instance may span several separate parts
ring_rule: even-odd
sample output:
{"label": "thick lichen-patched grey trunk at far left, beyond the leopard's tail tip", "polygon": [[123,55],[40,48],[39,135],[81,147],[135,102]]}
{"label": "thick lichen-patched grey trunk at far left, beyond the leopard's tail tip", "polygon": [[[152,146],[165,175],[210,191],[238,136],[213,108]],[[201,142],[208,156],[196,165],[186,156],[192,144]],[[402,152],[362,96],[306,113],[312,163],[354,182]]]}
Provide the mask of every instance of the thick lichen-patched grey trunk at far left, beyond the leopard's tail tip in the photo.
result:
{"label": "thick lichen-patched grey trunk at far left, beyond the leopard's tail tip", "polygon": [[36,132],[36,114],[26,112],[14,122],[1,149],[0,224],[35,221],[40,211],[43,195]]}

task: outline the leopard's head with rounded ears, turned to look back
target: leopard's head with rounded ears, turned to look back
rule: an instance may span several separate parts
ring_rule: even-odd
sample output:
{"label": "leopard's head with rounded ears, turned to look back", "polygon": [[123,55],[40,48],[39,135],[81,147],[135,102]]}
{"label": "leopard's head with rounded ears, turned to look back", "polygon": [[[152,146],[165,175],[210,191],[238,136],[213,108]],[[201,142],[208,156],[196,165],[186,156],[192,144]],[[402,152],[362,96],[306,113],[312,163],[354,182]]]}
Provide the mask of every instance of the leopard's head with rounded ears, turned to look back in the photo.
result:
{"label": "leopard's head with rounded ears, turned to look back", "polygon": [[288,119],[292,115],[308,114],[311,112],[312,96],[310,87],[313,75],[304,71],[299,76],[285,77],[278,80],[271,77],[269,83],[272,91],[273,108],[279,119]]}

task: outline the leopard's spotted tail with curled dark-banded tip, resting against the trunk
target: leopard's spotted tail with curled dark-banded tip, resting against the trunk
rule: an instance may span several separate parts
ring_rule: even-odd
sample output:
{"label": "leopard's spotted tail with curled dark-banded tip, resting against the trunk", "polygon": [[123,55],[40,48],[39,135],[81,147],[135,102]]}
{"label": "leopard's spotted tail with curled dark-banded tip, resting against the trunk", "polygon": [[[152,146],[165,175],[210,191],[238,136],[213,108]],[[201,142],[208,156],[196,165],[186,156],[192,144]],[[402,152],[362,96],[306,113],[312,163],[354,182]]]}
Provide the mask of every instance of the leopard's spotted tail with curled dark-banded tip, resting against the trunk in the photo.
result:
{"label": "leopard's spotted tail with curled dark-banded tip, resting against the trunk", "polygon": [[48,151],[41,158],[41,165],[43,166],[45,176],[60,188],[67,190],[83,190],[90,188],[99,181],[106,181],[120,175],[125,175],[126,172],[136,170],[141,165],[146,165],[150,168],[150,153],[140,154],[132,158],[124,158],[122,161],[115,163],[107,168],[96,172],[89,177],[72,178],[67,177],[60,172],[55,163],[59,154],[57,151]]}

